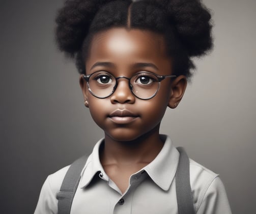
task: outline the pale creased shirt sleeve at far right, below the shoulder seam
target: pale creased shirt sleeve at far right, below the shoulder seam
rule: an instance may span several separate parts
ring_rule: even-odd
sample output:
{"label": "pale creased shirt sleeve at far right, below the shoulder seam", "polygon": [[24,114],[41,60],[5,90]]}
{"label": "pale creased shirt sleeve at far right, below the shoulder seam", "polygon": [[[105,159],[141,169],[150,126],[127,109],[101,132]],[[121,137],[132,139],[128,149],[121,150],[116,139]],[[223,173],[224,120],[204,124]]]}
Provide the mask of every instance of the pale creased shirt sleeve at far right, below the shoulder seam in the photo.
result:
{"label": "pale creased shirt sleeve at far right, below the shoulder seam", "polygon": [[197,214],[231,214],[224,185],[217,176],[207,189]]}

